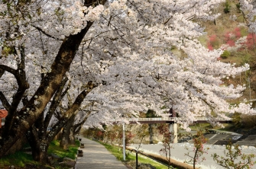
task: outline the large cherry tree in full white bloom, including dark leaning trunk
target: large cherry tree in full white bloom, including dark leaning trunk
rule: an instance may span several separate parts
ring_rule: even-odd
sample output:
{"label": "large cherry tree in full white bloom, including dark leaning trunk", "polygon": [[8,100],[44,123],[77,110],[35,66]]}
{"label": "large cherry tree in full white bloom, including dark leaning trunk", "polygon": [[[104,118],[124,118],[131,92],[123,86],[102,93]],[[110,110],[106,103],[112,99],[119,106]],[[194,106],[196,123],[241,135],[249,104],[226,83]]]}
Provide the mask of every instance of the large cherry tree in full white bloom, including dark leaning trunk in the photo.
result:
{"label": "large cherry tree in full white bloom, including dark leaning trunk", "polygon": [[[81,111],[91,112],[86,125],[99,126],[141,110],[160,115],[173,107],[184,129],[195,116],[214,122],[226,113],[253,113],[248,104],[226,101],[240,97],[244,87],[222,85],[222,78],[248,65],[220,62],[222,50],[209,51],[196,40],[204,33],[199,21],[217,18],[211,10],[221,2],[0,2],[0,100],[8,110],[0,158],[25,132],[42,136],[46,126],[37,122],[49,125],[53,113],[61,116],[47,132],[50,137]],[[92,102],[95,110],[86,107]],[[46,151],[41,143],[37,148]]]}

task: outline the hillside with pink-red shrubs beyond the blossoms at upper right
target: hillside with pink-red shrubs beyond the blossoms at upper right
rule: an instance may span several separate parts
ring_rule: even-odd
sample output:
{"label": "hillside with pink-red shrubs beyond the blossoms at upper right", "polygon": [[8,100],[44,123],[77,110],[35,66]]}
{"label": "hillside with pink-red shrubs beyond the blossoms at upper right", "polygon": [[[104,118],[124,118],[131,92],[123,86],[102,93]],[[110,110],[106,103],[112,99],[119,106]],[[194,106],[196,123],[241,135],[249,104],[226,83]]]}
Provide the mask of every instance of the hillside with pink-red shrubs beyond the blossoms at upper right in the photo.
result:
{"label": "hillside with pink-red shrubs beyond the blossoms at upper right", "polygon": [[248,32],[247,20],[243,12],[240,10],[238,0],[227,0],[225,3],[215,8],[215,13],[221,13],[215,21],[201,21],[206,27],[207,34],[199,37],[199,41],[209,50],[225,49],[220,60],[222,62],[235,63],[236,65],[244,65],[248,63],[250,70],[235,78],[223,79],[223,85],[246,85],[245,93],[238,101],[256,99],[256,50],[254,33]]}

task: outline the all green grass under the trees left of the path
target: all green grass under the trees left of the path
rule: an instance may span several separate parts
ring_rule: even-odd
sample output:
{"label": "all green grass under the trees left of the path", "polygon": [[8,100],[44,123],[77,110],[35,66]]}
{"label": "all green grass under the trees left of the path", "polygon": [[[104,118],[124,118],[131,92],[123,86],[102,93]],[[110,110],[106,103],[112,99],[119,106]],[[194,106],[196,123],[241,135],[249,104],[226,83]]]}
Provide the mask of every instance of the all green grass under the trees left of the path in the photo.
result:
{"label": "all green grass under the trees left of the path", "polygon": [[[79,148],[79,141],[76,141],[75,145],[70,145],[67,150],[60,148],[59,145],[60,141],[58,140],[51,142],[48,148],[48,154],[53,153],[60,156],[60,158],[76,158],[77,150]],[[33,164],[39,168],[47,168],[47,166],[41,167],[42,165],[40,163],[33,161],[32,155],[28,155],[24,151],[16,151],[14,154],[6,155],[5,157],[0,158],[0,168],[8,168],[8,166],[11,165],[14,165],[15,168],[20,168],[25,167],[26,164]]]}

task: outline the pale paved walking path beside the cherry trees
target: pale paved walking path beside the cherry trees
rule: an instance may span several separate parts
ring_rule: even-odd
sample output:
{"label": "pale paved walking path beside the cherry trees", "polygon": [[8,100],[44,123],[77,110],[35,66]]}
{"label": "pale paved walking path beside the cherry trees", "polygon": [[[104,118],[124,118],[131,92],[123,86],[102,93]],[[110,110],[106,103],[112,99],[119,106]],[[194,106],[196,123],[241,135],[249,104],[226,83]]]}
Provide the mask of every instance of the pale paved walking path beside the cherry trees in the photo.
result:
{"label": "pale paved walking path beside the cherry trees", "polygon": [[75,169],[127,169],[121,161],[118,161],[103,145],[83,137],[83,157],[77,157]]}

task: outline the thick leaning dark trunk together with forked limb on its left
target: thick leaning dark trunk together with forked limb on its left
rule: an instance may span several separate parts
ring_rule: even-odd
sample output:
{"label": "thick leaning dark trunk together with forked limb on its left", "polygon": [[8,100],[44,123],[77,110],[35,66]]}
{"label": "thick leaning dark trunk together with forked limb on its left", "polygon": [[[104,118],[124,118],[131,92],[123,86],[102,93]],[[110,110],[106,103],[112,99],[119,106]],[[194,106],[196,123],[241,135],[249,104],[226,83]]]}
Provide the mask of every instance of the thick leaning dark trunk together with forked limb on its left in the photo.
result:
{"label": "thick leaning dark trunk together with forked limb on its left", "polygon": [[[99,4],[104,5],[105,2],[106,0],[86,0],[84,1],[84,5],[86,7]],[[0,64],[0,75],[7,71],[12,75],[15,75],[15,78],[18,81],[18,91],[14,95],[11,104],[8,104],[8,101],[5,101],[7,99],[3,96],[2,92],[0,92],[2,103],[5,104],[5,107],[8,107],[7,110],[9,112],[6,118],[6,126],[2,138],[0,138],[0,158],[6,155],[6,152],[8,152],[11,146],[31,128],[39,116],[44,112],[44,108],[53,97],[53,94],[60,87],[60,83],[70,68],[83,37],[85,37],[92,24],[93,22],[88,21],[86,27],[79,33],[70,34],[70,36],[63,40],[57,56],[50,66],[51,72],[47,72],[44,76],[44,80],[41,81],[37,91],[34,93],[34,96],[31,97],[28,104],[22,107],[21,110],[18,110],[18,105],[24,96],[25,90],[29,88],[28,82],[25,81],[24,83],[23,80],[26,79],[23,64],[24,57],[21,62],[22,64],[17,70]],[[25,56],[24,49],[25,47],[21,46],[22,56]]]}

